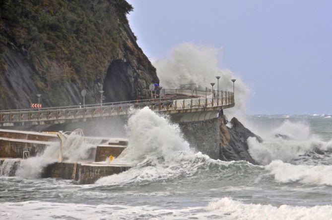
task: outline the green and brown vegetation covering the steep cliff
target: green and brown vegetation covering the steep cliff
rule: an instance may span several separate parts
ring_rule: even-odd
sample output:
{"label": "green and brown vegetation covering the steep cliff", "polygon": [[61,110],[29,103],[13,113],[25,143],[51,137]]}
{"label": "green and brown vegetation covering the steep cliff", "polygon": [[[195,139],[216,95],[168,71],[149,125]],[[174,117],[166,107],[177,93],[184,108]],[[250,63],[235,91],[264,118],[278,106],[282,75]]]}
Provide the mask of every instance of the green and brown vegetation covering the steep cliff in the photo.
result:
{"label": "green and brown vegetation covering the steep cliff", "polygon": [[[8,68],[9,47],[28,60],[48,105],[74,104],[66,100],[71,91],[65,91],[65,83],[76,90],[96,87],[115,59],[137,60],[155,75],[129,28],[126,15],[132,10],[125,0],[2,0],[0,80]],[[87,100],[93,102],[94,96]]]}

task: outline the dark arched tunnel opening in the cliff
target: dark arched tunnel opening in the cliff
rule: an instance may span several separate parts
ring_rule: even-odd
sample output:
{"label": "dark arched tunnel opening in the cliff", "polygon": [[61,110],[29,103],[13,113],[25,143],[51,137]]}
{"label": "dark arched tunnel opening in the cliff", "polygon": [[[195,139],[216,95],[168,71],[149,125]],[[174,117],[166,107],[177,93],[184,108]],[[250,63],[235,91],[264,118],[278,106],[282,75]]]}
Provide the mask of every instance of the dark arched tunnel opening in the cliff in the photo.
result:
{"label": "dark arched tunnel opening in the cliff", "polygon": [[113,60],[107,69],[103,84],[105,102],[136,99],[137,74],[128,62]]}

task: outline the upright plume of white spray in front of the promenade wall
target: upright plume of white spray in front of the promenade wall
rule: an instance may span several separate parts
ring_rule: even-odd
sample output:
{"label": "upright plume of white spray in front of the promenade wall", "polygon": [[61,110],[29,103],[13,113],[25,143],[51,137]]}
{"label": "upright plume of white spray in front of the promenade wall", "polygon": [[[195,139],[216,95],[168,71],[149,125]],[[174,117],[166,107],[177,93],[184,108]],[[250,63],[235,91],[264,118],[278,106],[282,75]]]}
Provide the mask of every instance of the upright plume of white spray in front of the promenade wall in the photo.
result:
{"label": "upright plume of white spray in front of the promenade wall", "polygon": [[179,126],[148,107],[131,116],[127,129],[129,145],[114,162],[133,164],[148,158],[181,160],[183,156],[194,154]]}

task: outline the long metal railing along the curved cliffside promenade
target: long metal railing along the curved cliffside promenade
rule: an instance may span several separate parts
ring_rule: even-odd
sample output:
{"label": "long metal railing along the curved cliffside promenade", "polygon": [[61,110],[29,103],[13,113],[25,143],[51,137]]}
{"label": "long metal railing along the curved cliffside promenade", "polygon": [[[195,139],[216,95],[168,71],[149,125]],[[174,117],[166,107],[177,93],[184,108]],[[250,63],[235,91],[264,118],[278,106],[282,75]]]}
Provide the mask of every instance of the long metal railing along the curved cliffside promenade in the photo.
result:
{"label": "long metal railing along the curved cliffside promenade", "polygon": [[[188,89],[187,89],[188,90]],[[175,91],[175,95],[193,96],[192,91],[183,90]],[[203,91],[205,95],[205,91]],[[202,93],[202,94],[203,94]],[[199,94],[199,91],[197,91]],[[172,96],[172,95],[171,95]],[[80,118],[94,118],[104,116],[126,115],[130,114],[133,109],[143,108],[148,106],[153,111],[167,112],[172,110],[182,109],[197,109],[209,108],[216,106],[230,106],[234,104],[233,92],[223,91],[219,97],[211,98],[196,96],[195,98],[169,97],[165,93],[164,97],[161,95],[156,99],[133,100],[123,102],[111,102],[103,104],[92,105],[76,105],[63,107],[50,107],[40,109],[20,109],[20,110],[4,110],[0,111],[0,123],[12,122],[31,122],[31,121],[56,121]]]}

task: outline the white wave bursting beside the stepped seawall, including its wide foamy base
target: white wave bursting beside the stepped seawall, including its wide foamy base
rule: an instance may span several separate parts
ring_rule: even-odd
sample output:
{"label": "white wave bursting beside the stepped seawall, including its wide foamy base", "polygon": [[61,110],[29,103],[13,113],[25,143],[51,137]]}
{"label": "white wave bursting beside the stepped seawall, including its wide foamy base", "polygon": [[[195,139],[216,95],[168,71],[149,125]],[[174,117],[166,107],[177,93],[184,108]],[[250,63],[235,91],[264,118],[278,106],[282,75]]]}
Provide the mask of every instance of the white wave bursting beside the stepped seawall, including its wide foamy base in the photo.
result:
{"label": "white wave bursting beside the stepped seawall, including its wide foamy base", "polygon": [[112,163],[131,164],[133,168],[118,175],[103,177],[97,180],[96,184],[144,185],[200,175],[228,178],[232,171],[241,173],[250,169],[261,169],[244,161],[224,162],[213,160],[200,152],[196,153],[183,138],[177,124],[171,123],[168,118],[158,115],[148,107],[133,114],[128,121],[128,132],[128,148]]}

